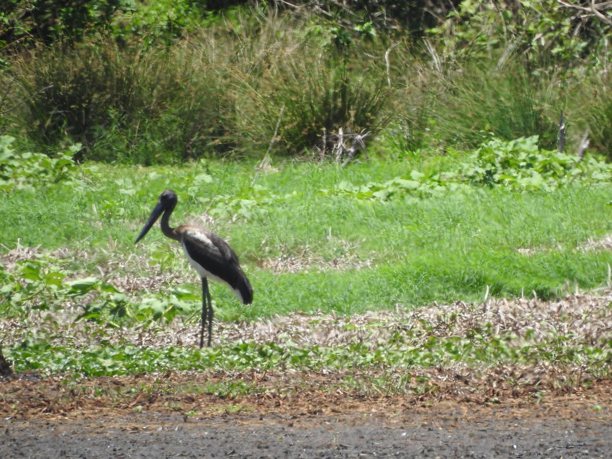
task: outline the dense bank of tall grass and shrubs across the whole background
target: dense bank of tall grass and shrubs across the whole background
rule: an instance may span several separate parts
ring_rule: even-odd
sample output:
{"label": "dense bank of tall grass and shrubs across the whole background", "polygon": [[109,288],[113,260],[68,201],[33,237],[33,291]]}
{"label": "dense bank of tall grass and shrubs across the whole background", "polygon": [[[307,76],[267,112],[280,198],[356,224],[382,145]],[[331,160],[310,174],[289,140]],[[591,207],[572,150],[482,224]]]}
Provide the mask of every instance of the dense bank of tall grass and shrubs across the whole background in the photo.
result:
{"label": "dense bank of tall grass and shrubs across the whole background", "polygon": [[[239,2],[237,2],[239,3]],[[244,2],[243,2],[244,3]],[[610,152],[608,11],[581,2],[7,2],[0,129],[78,159],[169,163],[489,135]],[[390,154],[391,152],[381,152]]]}

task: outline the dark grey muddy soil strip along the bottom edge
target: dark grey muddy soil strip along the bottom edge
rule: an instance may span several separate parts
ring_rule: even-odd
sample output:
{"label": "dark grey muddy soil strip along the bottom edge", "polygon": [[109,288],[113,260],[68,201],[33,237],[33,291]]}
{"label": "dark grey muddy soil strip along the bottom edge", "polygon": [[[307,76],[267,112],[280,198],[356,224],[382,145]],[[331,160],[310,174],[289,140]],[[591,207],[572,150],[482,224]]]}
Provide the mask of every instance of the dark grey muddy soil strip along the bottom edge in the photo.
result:
{"label": "dark grey muddy soil strip along the bottom edge", "polygon": [[346,414],[302,420],[227,416],[184,422],[147,413],[2,423],[4,458],[595,458],[610,457],[602,420],[389,420]]}

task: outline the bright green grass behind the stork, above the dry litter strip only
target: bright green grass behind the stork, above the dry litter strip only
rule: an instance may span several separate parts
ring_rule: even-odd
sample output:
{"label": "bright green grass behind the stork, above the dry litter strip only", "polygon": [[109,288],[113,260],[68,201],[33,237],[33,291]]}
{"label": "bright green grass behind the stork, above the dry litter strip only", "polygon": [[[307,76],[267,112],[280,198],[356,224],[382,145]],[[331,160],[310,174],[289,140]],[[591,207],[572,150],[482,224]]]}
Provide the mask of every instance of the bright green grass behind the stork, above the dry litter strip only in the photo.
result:
{"label": "bright green grass behind the stork, above the dry litter strip only", "polygon": [[[271,201],[257,204],[247,218],[220,214],[213,230],[231,239],[255,286],[255,303],[240,307],[226,289],[215,289],[221,318],[286,313],[292,310],[340,313],[418,307],[433,301],[476,301],[521,292],[554,297],[565,282],[591,289],[606,282],[605,252],[576,250],[587,239],[612,231],[608,185],[564,187],[553,192],[517,193],[480,188],[430,198],[397,198],[386,203],[319,193],[342,179],[359,183],[391,178],[410,165],[375,163],[344,170],[335,165],[285,163],[261,174],[257,184]],[[193,177],[211,173],[197,189]],[[184,168],[100,169],[81,189],[47,185],[35,192],[12,192],[0,203],[0,231],[6,248],[84,250],[91,257],[70,260],[77,275],[95,275],[95,264],[143,256],[164,271],[193,279],[176,244],[152,231],[133,245],[159,192],[174,188],[178,225],[214,208],[219,195],[248,198],[253,163],[211,163]],[[371,174],[368,174],[368,171]],[[95,210],[94,210],[95,209]],[[235,221],[234,218],[236,218]],[[524,255],[518,249],[531,250]],[[312,258],[307,272],[273,273],[258,265],[280,256]],[[179,256],[174,254],[178,253]],[[369,269],[320,272],[334,259],[370,260]],[[70,259],[70,257],[69,257]],[[155,261],[157,259],[157,261]],[[114,273],[123,274],[121,272]],[[147,275],[125,263],[126,275]],[[112,283],[112,280],[110,280]]]}

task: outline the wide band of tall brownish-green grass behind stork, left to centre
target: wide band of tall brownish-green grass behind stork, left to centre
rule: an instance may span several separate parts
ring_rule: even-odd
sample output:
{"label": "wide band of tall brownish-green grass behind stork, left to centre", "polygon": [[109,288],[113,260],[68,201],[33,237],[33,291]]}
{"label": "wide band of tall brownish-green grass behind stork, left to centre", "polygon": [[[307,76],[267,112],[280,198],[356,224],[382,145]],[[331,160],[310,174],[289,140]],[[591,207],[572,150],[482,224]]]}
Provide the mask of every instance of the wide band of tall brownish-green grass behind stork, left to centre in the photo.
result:
{"label": "wide band of tall brownish-green grass behind stork, left to centre", "polygon": [[87,159],[138,163],[253,154],[272,140],[289,155],[326,153],[335,144],[323,139],[341,130],[370,141],[384,128],[390,88],[371,57],[382,42],[338,45],[335,29],[310,17],[249,12],[165,48],[41,45],[14,59],[13,97],[28,100],[17,118],[41,144],[69,139]]}

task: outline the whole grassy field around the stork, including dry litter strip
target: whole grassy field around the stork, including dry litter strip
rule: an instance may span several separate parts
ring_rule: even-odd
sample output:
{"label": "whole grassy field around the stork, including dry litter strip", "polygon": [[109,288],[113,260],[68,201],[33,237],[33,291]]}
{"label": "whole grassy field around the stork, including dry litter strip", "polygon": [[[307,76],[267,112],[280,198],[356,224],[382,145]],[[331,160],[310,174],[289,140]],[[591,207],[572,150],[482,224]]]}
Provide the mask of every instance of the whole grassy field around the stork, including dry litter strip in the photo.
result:
{"label": "whole grassy field around the stork, including dry litter strip", "polygon": [[[605,376],[608,332],[595,339],[574,328],[602,320],[609,302],[553,316],[547,304],[610,285],[609,178],[540,190],[425,187],[458,164],[90,164],[61,179],[24,179],[0,202],[4,354],[16,371],[74,377],[365,371],[334,384],[400,392],[424,390],[428,371],[457,365],[480,375],[500,365],[588,365],[564,384]],[[425,191],[394,181],[414,171]],[[244,306],[212,286],[211,349],[196,348],[200,282],[178,244],[157,227],[133,243],[166,188],[179,196],[171,224],[200,223],[230,241],[255,291]],[[502,325],[501,312],[479,316],[492,298],[518,302],[510,316],[520,325]]]}

